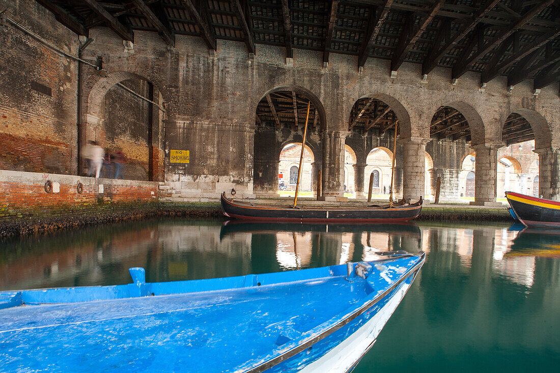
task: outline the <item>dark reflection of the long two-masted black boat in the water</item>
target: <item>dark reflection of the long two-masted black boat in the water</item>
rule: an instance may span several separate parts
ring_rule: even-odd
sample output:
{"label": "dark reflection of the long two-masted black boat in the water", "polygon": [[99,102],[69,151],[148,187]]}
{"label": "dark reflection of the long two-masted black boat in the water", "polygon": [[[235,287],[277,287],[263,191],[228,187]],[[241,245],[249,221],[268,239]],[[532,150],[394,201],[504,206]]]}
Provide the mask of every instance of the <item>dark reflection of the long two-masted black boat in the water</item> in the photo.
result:
{"label": "dark reflection of the long two-masted black boat in the water", "polygon": [[237,232],[384,232],[399,235],[420,236],[419,227],[410,222],[392,224],[324,224],[324,223],[273,223],[243,220],[225,221],[220,229],[220,238]]}

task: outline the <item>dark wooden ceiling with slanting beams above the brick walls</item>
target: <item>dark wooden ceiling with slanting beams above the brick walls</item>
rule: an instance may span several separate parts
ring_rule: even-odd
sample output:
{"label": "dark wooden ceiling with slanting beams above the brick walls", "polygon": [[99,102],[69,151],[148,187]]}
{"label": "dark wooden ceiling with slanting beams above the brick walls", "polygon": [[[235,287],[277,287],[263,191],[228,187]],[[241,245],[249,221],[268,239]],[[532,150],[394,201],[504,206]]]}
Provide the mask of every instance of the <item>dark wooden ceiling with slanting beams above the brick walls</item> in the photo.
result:
{"label": "dark wooden ceiling with slanting beams above the brick walls", "polygon": [[175,35],[200,36],[209,49],[216,40],[332,53],[366,60],[437,66],[452,78],[467,71],[481,82],[507,76],[513,86],[534,78],[543,88],[559,80],[559,0],[36,0],[77,34],[108,26],[124,40],[135,30],[158,32],[162,43]]}

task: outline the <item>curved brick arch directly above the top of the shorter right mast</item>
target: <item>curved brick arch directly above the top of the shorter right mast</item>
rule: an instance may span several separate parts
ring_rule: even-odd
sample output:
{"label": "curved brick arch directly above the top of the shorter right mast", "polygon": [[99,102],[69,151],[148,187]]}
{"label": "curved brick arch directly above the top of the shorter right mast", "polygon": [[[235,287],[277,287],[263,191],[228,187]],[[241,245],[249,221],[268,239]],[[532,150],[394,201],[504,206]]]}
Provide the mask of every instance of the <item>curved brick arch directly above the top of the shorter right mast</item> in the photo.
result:
{"label": "curved brick arch directly above the top of the shorter right mast", "polygon": [[348,104],[346,105],[346,113],[343,113],[343,118],[350,118],[351,110],[354,104],[356,104],[356,101],[365,97],[373,97],[374,99],[383,101],[385,104],[390,106],[391,110],[395,113],[396,118],[399,120],[400,138],[418,136],[418,134],[422,132],[421,129],[412,128],[412,123],[417,122],[417,118],[415,118],[413,114],[415,113],[413,109],[414,106],[410,105],[405,97],[396,94],[396,92],[389,92],[389,90],[382,92],[381,87],[377,87],[377,90],[371,92],[361,92],[360,94],[350,95]]}

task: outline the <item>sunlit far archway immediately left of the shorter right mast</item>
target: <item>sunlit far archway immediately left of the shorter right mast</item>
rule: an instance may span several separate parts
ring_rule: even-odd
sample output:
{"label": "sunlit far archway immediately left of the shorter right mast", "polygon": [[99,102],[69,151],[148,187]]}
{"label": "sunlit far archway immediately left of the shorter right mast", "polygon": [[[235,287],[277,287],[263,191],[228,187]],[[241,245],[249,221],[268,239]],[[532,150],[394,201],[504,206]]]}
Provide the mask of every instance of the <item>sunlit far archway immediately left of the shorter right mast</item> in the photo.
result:
{"label": "sunlit far archway immediately left of the shorter right mast", "polygon": [[370,178],[373,178],[371,194],[374,198],[385,199],[390,192],[391,185],[391,161],[393,152],[386,147],[372,149],[366,157],[366,178],[364,180],[364,191],[367,195],[370,187]]}

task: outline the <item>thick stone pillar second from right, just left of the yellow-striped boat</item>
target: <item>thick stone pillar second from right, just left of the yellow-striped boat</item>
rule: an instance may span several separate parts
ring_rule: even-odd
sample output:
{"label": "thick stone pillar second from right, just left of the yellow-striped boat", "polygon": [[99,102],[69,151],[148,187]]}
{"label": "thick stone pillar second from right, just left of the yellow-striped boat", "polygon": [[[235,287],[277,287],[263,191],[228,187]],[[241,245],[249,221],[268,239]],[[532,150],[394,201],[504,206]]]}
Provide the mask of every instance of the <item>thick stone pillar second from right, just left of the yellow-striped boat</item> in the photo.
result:
{"label": "thick stone pillar second from right, just left of the yellow-striped boat", "polygon": [[501,206],[496,203],[496,180],[498,148],[503,144],[478,144],[473,146],[476,161],[474,166],[474,202],[470,204]]}

